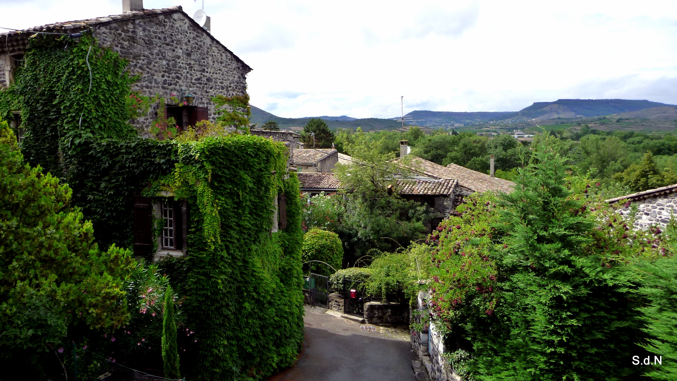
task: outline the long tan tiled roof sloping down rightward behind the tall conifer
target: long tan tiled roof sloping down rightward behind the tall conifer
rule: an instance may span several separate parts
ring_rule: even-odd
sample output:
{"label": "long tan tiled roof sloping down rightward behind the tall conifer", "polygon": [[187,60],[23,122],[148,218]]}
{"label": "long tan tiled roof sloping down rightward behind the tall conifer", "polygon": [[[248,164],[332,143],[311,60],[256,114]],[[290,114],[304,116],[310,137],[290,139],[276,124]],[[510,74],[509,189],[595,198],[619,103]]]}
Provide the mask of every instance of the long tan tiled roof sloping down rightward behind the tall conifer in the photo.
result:
{"label": "long tan tiled roof sloping down rightward behind the tall conifer", "polygon": [[432,161],[427,161],[416,157],[412,161],[410,169],[414,172],[431,176],[432,178],[451,178],[458,180],[458,184],[464,188],[475,192],[486,192],[487,190],[501,190],[511,192],[515,183],[502,178],[496,178],[473,171],[460,165],[450,164],[444,167]]}

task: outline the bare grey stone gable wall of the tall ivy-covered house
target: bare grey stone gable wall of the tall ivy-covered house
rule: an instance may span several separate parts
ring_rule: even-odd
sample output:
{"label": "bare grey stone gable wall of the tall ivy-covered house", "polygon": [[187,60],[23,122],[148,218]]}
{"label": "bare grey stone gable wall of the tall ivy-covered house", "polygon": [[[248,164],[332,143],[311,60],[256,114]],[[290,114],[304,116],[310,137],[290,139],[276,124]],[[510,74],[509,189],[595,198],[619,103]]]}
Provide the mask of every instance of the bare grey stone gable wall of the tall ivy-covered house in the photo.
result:
{"label": "bare grey stone gable wall of the tall ivy-covered house", "polygon": [[[132,88],[145,96],[160,94],[170,103],[170,94],[179,98],[183,88],[195,96],[192,105],[209,108],[209,118],[215,121],[211,97],[246,94],[249,69],[181,12],[100,24],[95,36],[129,60],[129,71],[140,75]],[[148,135],[156,117],[154,107],[133,124]]]}

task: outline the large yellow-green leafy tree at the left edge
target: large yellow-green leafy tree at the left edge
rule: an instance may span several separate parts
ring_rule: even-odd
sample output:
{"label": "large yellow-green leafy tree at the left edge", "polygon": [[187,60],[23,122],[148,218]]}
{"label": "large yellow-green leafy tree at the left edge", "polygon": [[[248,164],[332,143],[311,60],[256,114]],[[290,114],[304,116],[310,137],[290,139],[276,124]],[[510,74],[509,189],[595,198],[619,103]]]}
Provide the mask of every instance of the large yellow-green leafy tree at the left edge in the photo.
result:
{"label": "large yellow-green leafy tree at the left edge", "polygon": [[18,369],[82,330],[127,322],[131,254],[99,251],[70,188],[24,163],[5,121],[0,179],[0,357]]}

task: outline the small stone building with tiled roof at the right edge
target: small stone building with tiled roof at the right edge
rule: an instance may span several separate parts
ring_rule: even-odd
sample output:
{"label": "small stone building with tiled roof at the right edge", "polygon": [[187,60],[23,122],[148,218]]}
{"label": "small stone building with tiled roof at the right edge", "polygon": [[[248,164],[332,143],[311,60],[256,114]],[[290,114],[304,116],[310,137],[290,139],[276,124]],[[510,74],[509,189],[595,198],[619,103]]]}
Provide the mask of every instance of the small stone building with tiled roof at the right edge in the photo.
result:
{"label": "small stone building with tiled roof at the right edge", "polygon": [[[610,204],[624,201],[624,205],[617,209],[617,212],[623,216],[628,216],[628,218],[634,218],[633,228],[635,230],[649,228],[650,226],[665,228],[665,225],[670,222],[670,218],[677,214],[677,184],[605,201]],[[631,216],[633,209],[636,210],[636,214]]]}

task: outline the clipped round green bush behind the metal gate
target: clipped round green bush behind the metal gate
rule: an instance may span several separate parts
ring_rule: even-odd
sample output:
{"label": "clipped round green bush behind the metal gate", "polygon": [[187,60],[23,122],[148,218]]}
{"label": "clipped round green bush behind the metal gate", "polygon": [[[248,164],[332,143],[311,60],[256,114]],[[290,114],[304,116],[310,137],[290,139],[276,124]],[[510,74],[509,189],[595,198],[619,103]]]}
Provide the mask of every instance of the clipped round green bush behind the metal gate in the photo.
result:
{"label": "clipped round green bush behind the metal gate", "polygon": [[[338,270],[343,264],[343,245],[339,235],[334,232],[311,228],[303,235],[303,247],[301,247],[301,260],[320,260],[330,264]],[[310,264],[311,271],[324,273],[327,269],[324,264]],[[332,270],[333,273],[333,270]]]}

